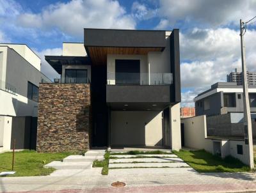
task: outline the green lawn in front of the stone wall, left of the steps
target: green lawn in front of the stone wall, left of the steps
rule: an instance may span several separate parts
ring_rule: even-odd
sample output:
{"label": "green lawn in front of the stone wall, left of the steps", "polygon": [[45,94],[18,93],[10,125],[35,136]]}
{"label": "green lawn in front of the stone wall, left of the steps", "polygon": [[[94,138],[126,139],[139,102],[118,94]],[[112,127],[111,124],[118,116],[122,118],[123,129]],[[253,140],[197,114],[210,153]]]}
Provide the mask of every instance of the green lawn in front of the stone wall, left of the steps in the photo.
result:
{"label": "green lawn in front of the stone wall, left of the steps", "polygon": [[[44,168],[45,164],[62,160],[71,153],[37,153],[36,151],[15,152],[15,174],[9,176],[45,176],[55,169]],[[12,170],[12,152],[0,153],[0,172]]]}

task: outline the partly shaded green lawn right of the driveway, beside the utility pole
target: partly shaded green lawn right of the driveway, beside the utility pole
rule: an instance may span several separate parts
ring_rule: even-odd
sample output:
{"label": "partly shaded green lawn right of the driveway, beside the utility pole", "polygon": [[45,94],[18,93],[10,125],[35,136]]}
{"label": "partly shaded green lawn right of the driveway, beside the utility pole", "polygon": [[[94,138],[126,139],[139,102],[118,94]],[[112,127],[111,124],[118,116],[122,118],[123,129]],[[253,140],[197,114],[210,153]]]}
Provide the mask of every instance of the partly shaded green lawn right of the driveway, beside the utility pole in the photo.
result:
{"label": "partly shaded green lawn right of the driveway, beside the utility pole", "polygon": [[216,155],[206,152],[205,150],[197,151],[173,151],[184,162],[189,164],[198,172],[244,172],[250,171],[250,168],[245,166],[240,160],[234,157],[226,157],[222,159]]}

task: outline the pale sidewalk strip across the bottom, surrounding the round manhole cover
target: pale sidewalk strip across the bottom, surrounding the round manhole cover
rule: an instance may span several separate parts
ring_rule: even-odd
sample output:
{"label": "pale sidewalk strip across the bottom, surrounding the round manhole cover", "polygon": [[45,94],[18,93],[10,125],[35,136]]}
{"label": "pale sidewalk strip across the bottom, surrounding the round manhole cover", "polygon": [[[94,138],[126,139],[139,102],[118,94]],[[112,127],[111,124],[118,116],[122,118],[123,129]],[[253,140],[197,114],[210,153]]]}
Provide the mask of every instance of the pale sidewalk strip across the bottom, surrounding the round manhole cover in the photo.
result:
{"label": "pale sidewalk strip across the bottom, surrounding the round manhole cover", "polygon": [[[116,174],[0,178],[0,192],[256,192],[254,173]],[[123,181],[125,187],[111,183]]]}

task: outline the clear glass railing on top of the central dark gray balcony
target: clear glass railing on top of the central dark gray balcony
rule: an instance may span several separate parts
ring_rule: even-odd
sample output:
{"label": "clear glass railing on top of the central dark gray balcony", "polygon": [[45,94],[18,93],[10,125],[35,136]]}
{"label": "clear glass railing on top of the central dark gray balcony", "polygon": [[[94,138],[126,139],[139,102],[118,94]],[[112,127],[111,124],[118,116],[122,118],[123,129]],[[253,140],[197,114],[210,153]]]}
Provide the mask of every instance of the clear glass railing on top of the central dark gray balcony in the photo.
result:
{"label": "clear glass railing on top of the central dark gray balcony", "polygon": [[107,84],[168,85],[172,73],[113,73],[108,72]]}

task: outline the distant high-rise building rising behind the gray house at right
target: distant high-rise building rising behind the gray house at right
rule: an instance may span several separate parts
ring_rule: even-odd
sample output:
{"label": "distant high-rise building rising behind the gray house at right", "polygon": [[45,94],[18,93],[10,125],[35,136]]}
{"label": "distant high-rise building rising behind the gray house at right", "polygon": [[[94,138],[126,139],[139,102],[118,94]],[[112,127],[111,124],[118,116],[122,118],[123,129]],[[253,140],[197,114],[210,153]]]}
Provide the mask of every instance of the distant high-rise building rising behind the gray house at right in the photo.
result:
{"label": "distant high-rise building rising behind the gray house at right", "polygon": [[[248,85],[256,86],[256,72],[247,72],[247,81]],[[227,75],[227,82],[236,82],[237,85],[243,85],[241,72],[237,72],[237,69],[235,72],[230,72]]]}

